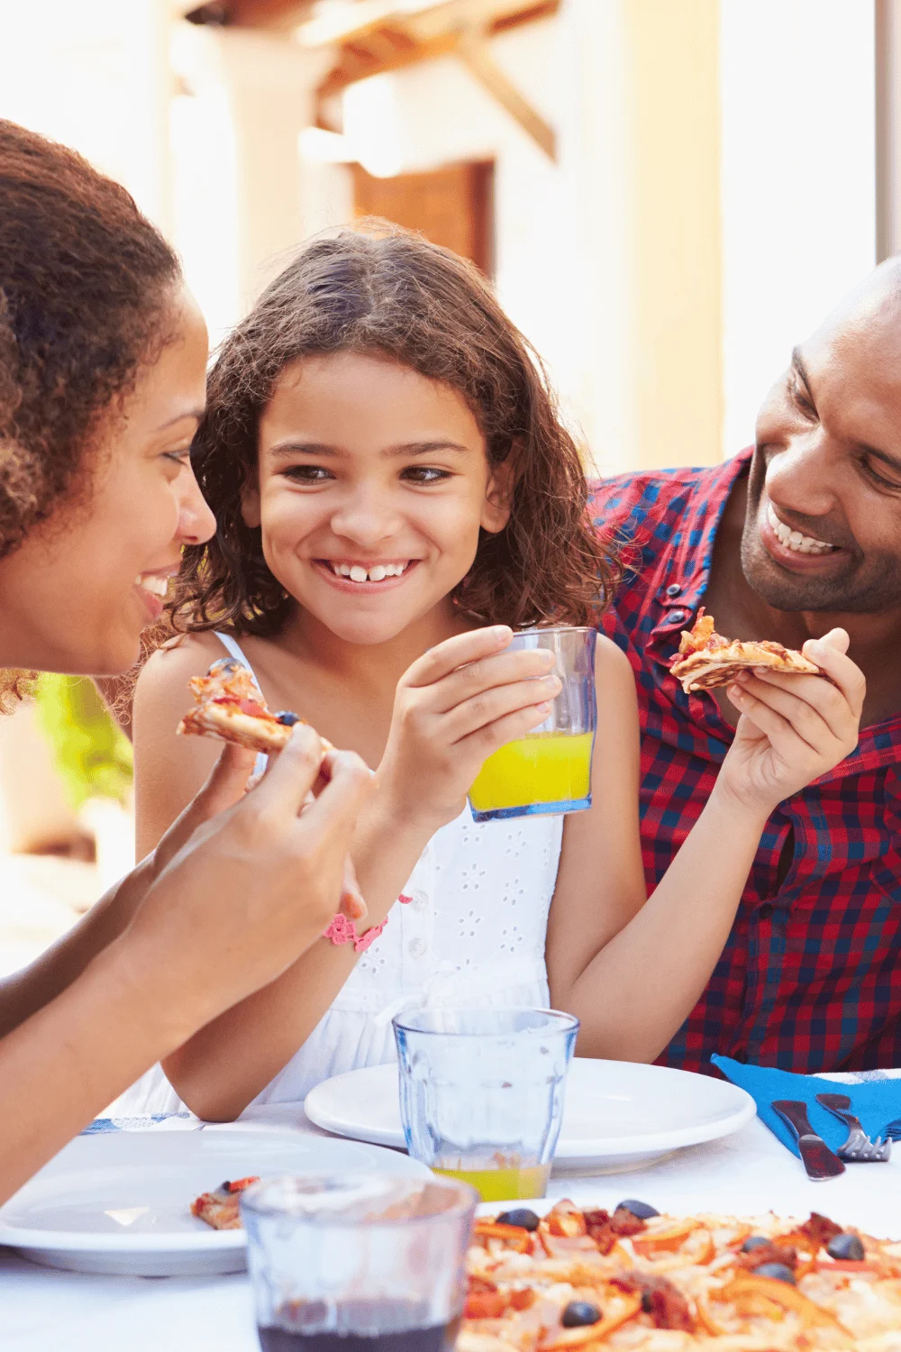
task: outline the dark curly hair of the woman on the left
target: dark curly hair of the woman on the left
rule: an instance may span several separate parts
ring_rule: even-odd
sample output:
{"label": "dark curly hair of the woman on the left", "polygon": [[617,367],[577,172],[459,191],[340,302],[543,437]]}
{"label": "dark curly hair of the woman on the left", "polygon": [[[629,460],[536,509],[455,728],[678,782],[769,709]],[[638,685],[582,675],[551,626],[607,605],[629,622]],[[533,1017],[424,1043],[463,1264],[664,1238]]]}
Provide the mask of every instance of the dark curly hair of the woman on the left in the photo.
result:
{"label": "dark curly hair of the woman on the left", "polygon": [[[124,188],[0,120],[0,558],[84,491],[96,433],[168,338],[180,276]],[[0,708],[20,690],[0,673]]]}

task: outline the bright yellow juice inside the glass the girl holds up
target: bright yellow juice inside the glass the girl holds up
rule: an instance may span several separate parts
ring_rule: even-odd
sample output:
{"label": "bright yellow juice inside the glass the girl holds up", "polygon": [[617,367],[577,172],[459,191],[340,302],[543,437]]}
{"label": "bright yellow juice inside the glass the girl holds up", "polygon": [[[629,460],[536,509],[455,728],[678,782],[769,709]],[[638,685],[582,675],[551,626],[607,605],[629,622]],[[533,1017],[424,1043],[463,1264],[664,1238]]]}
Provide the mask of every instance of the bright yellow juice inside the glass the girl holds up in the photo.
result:
{"label": "bright yellow juice inside the glass the girl holds up", "polygon": [[469,791],[473,811],[584,802],[590,792],[593,741],[593,733],[538,733],[508,742],[478,772]]}

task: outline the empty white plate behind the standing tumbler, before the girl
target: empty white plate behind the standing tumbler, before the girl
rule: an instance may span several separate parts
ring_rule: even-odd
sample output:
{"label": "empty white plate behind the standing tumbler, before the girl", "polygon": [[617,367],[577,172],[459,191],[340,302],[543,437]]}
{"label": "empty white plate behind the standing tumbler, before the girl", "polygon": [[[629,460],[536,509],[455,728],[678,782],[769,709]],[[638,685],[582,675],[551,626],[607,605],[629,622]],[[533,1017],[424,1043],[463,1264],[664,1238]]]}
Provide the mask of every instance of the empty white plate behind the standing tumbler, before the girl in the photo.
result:
{"label": "empty white plate behind the standing tumbler, before the girl", "polygon": [[[323,1080],[307,1095],[307,1117],[338,1136],[404,1146],[397,1065],[373,1065]],[[756,1107],[744,1090],[709,1075],[629,1061],[575,1057],[566,1080],[555,1172],[615,1174],[685,1145],[729,1136]]]}

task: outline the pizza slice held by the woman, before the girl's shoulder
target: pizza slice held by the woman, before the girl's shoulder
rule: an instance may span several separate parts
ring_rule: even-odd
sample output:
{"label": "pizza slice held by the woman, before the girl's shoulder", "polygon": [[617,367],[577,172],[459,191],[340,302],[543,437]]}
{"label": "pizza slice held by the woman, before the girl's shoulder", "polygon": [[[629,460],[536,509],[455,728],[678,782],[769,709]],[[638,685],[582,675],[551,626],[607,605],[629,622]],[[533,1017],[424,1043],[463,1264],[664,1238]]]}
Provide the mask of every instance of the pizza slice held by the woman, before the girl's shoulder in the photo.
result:
{"label": "pizza slice held by the woman, before the girl's shoulder", "polygon": [[[290,740],[294,723],[305,722],[299,714],[273,714],[257,688],[249,669],[231,657],[213,662],[205,676],[188,681],[197,707],[178,723],[181,734],[217,737],[238,742],[251,752],[280,752]],[[321,738],[323,754],[332,750]]]}

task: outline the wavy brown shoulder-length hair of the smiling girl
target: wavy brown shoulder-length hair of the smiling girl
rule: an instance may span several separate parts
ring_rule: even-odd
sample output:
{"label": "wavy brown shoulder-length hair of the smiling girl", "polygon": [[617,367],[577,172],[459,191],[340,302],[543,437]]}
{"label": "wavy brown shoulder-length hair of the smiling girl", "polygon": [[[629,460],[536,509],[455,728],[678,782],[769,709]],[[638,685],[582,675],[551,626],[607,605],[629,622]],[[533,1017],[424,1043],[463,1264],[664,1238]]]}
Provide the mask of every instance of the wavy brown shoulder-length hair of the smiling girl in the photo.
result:
{"label": "wavy brown shoulder-length hair of the smiling girl", "polygon": [[224,341],[209,375],[192,458],[217,531],[185,549],[170,618],[176,630],[227,626],[278,633],[294,604],[244,525],[242,493],[257,470],[259,416],[282,370],[304,357],[388,357],[455,389],[493,465],[513,456],[512,512],[480,534],[458,606],[513,627],[593,623],[617,566],[592,526],[575,443],[540,360],[481,273],[420,235],[385,223],[313,241]]}

